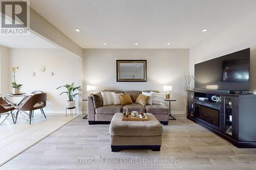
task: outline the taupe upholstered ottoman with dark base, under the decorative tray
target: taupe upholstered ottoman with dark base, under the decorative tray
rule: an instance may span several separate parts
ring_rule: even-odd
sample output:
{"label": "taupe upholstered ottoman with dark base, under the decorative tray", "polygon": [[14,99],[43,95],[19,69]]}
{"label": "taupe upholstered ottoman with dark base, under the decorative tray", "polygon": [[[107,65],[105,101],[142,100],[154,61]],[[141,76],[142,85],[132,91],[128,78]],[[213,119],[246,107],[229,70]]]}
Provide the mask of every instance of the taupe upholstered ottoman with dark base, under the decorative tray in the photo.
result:
{"label": "taupe upholstered ottoman with dark base, under the decorative tray", "polygon": [[160,151],[163,127],[156,117],[148,113],[148,121],[122,121],[122,113],[116,113],[110,123],[112,152],[121,149],[151,149]]}

